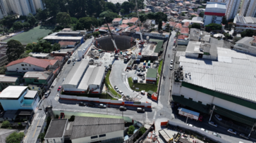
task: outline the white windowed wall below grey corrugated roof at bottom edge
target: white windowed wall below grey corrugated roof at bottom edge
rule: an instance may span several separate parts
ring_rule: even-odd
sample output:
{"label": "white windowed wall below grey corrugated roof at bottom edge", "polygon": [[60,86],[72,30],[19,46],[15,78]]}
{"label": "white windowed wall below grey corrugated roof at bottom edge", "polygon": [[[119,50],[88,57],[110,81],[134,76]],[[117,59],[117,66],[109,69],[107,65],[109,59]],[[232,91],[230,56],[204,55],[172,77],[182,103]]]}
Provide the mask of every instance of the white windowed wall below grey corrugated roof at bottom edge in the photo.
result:
{"label": "white windowed wall below grey corrugated roof at bottom edge", "polygon": [[[95,136],[95,135],[92,135]],[[95,139],[91,139],[90,137],[83,137],[83,138],[79,138],[79,139],[72,139],[73,143],[89,143],[89,142],[97,142],[100,140],[105,140],[105,139],[114,139],[116,137],[123,137],[123,130],[118,130],[116,132],[108,132],[106,133],[106,137],[99,137],[99,135],[97,135],[98,137]]]}

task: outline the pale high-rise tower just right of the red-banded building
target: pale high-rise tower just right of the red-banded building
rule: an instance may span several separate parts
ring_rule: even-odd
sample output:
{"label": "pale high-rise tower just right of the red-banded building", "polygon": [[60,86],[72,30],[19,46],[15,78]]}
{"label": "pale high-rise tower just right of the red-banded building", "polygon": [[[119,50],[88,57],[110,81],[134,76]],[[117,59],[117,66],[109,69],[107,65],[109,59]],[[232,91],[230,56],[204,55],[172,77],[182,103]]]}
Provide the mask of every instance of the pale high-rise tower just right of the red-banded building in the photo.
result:
{"label": "pale high-rise tower just right of the red-banded building", "polygon": [[226,1],[226,19],[231,20],[238,14],[238,9],[241,0],[227,0]]}

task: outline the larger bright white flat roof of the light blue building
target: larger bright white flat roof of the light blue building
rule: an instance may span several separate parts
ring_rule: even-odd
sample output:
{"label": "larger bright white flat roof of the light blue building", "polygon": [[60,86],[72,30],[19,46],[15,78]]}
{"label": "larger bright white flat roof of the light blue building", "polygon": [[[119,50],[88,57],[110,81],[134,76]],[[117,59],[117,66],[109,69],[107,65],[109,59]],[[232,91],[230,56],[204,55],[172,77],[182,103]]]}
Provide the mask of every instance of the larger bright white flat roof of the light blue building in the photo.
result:
{"label": "larger bright white flat roof of the light blue building", "polygon": [[0,93],[0,98],[18,98],[27,86],[8,86]]}

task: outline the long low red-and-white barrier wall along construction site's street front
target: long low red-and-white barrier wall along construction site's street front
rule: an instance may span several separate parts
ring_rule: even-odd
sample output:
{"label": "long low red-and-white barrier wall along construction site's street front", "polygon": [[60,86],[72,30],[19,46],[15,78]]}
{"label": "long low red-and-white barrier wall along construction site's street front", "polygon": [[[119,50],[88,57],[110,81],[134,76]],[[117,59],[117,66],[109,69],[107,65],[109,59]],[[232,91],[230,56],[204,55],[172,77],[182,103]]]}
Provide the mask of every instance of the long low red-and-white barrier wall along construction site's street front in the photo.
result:
{"label": "long low red-and-white barrier wall along construction site's street front", "polygon": [[150,108],[150,109],[152,106],[152,104],[148,103],[148,102],[127,102],[127,101],[99,99],[99,98],[92,98],[92,97],[80,97],[80,96],[75,96],[75,95],[59,95],[59,98],[61,100],[97,102],[97,103],[113,104],[113,105],[119,105],[119,106],[145,107],[145,108]]}

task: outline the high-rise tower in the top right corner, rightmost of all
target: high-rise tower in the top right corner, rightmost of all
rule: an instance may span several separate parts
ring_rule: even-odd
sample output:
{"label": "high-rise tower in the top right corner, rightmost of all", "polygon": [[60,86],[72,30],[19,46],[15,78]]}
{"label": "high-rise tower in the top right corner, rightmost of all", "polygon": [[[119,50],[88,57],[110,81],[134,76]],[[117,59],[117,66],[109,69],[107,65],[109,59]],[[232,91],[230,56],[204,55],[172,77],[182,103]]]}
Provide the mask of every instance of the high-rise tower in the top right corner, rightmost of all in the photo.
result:
{"label": "high-rise tower in the top right corner, rightmost of all", "polygon": [[256,0],[243,0],[239,15],[256,18]]}

